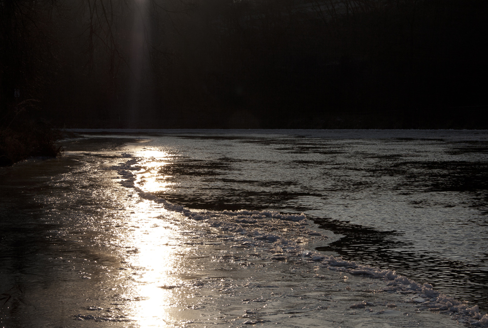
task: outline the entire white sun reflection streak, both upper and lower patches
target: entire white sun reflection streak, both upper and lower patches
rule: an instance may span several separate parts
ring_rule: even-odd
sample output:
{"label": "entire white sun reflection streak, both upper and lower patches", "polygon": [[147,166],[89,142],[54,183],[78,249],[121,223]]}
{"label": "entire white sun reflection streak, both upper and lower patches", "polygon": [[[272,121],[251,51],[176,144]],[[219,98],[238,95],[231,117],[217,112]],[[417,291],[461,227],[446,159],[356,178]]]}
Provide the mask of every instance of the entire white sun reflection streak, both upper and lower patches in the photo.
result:
{"label": "entire white sun reflection streak, both upper and lower patches", "polygon": [[[144,192],[164,192],[171,184],[158,174],[170,155],[156,149],[136,153],[141,158],[136,172],[136,185]],[[132,317],[138,327],[173,326],[171,312],[178,305],[178,278],[182,263],[177,240],[178,226],[167,218],[177,215],[150,200],[138,199],[129,217],[125,240],[127,264],[131,268],[126,298],[132,302]]]}

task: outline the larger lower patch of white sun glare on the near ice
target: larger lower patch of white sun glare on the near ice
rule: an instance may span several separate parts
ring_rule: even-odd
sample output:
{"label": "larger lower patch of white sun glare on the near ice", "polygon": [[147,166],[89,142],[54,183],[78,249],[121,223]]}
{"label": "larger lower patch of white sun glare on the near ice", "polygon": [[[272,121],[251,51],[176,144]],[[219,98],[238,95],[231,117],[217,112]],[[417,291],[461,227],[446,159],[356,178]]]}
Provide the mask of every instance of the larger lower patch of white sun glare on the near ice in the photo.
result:
{"label": "larger lower patch of white sun glare on the near ice", "polygon": [[174,319],[170,308],[179,303],[175,294],[182,284],[177,275],[181,263],[174,246],[180,233],[158,215],[161,209],[154,205],[148,200],[137,204],[130,217],[130,225],[136,229],[126,234],[126,245],[133,253],[128,258],[132,278],[125,297],[132,300],[132,318],[141,328],[171,326]]}

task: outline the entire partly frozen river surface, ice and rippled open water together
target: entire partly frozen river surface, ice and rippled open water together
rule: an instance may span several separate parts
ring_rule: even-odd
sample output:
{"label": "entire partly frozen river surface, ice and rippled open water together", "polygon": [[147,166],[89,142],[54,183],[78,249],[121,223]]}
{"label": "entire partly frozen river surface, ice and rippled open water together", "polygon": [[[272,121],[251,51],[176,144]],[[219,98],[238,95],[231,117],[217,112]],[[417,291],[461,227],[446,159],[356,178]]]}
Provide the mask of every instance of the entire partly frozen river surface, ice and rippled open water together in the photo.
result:
{"label": "entire partly frozen river surface, ice and rippled open water together", "polygon": [[488,327],[486,131],[63,144],[0,169],[1,327]]}

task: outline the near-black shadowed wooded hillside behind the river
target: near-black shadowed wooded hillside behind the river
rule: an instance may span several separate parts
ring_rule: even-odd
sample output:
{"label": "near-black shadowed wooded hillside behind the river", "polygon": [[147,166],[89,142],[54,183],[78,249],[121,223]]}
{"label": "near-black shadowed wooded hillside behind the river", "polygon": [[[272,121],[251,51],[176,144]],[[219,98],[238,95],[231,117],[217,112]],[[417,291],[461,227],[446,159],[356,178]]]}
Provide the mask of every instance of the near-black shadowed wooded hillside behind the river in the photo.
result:
{"label": "near-black shadowed wooded hillside behind the river", "polygon": [[486,0],[0,4],[2,129],[487,128]]}

